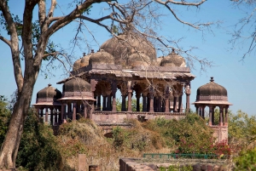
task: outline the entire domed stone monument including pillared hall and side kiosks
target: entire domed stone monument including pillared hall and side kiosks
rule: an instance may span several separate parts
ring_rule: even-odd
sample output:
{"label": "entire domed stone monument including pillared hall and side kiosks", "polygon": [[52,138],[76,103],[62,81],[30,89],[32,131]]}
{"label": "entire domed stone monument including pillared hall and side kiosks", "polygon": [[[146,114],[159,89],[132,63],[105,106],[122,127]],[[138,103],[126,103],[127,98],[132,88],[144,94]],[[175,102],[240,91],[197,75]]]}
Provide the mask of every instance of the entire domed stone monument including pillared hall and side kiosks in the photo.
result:
{"label": "entire domed stone monument including pillared hall and side kiosks", "polygon": [[[75,61],[70,77],[58,82],[63,84],[62,95],[49,86],[38,92],[34,106],[41,116],[44,108],[57,109],[58,112],[51,112],[50,120],[53,120],[54,113],[58,113],[55,121],[59,124],[67,119],[85,117],[106,130],[123,125],[125,118],[137,118],[142,122],[156,117],[179,119],[189,111],[190,82],[194,78],[175,49],[157,58],[156,50],[148,40],[128,31],[110,38],[97,52],[91,50],[90,54]],[[47,89],[50,89],[50,94]],[[122,104],[120,111],[116,105],[118,90]],[[182,101],[183,95],[186,96],[185,102]],[[132,111],[132,97],[137,100],[136,111]],[[227,101],[226,89],[211,80],[198,88],[194,104],[201,117],[205,117],[205,107],[209,106],[209,126],[218,134],[219,140],[224,140],[228,128],[227,110],[231,105]],[[218,126],[213,122],[215,106],[220,109]]]}

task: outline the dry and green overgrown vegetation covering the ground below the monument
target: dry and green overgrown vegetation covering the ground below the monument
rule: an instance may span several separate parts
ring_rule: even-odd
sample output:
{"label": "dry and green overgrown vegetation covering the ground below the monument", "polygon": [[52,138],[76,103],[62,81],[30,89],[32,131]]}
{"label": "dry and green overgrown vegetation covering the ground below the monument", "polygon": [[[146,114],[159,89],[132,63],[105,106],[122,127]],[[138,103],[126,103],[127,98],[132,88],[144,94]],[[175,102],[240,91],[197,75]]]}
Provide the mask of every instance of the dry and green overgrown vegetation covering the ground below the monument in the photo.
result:
{"label": "dry and green overgrown vegetation covering the ground below the monument", "polygon": [[[7,132],[10,113],[7,100],[1,96],[0,145]],[[126,123],[133,127],[113,128],[113,138],[106,138],[95,123],[80,118],[62,124],[55,136],[52,128],[40,123],[38,115],[31,110],[26,117],[16,167],[20,170],[77,170],[78,154],[83,153],[88,164],[100,165],[102,170],[118,170],[119,157],[142,157],[143,153],[200,153],[222,157],[230,154],[230,146],[234,146],[235,141],[246,140],[250,145],[236,157],[236,170],[255,169],[256,119],[242,111],[237,115],[230,113],[230,146],[225,142],[213,145],[212,129],[195,114],[179,121],[158,118],[145,123],[132,119]],[[163,168],[177,169],[180,168]]]}

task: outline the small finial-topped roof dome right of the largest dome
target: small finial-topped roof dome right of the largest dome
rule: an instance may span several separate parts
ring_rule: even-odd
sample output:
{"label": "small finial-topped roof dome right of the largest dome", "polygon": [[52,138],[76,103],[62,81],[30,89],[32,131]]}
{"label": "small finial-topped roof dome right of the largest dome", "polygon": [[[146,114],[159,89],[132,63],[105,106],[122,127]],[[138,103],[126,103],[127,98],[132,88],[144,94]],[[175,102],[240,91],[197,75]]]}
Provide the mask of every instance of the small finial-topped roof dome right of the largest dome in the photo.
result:
{"label": "small finial-topped roof dome right of the largest dome", "polygon": [[185,60],[182,56],[176,54],[174,49],[172,48],[172,53],[165,56],[161,62],[160,66],[178,66],[178,67],[186,67]]}

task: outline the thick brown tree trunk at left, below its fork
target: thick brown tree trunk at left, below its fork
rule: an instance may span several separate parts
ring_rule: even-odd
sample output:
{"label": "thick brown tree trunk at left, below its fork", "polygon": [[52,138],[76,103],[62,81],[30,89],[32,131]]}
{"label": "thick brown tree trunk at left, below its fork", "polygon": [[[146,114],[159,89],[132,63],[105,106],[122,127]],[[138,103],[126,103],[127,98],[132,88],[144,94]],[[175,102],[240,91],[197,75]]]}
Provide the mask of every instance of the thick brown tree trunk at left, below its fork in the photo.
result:
{"label": "thick brown tree trunk at left, below its fork", "polygon": [[21,134],[32,99],[33,83],[24,84],[15,103],[15,108],[9,123],[9,129],[3,141],[0,153],[0,169],[15,168],[15,159],[19,150]]}

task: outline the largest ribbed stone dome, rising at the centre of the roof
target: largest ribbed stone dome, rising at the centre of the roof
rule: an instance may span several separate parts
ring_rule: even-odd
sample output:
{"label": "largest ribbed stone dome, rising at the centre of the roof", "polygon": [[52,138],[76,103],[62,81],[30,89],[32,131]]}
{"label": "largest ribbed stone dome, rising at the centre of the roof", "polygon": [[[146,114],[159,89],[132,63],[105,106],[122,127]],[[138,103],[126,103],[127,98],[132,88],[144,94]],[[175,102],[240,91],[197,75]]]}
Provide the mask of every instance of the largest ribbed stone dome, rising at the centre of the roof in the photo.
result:
{"label": "largest ribbed stone dome, rising at the centre of the roof", "polygon": [[139,37],[136,33],[127,31],[117,37],[113,37],[102,44],[101,49],[104,49],[109,54],[113,55],[115,64],[125,64],[128,56],[137,51],[147,54],[150,60],[156,58],[156,52],[151,43],[145,38]]}

